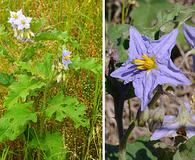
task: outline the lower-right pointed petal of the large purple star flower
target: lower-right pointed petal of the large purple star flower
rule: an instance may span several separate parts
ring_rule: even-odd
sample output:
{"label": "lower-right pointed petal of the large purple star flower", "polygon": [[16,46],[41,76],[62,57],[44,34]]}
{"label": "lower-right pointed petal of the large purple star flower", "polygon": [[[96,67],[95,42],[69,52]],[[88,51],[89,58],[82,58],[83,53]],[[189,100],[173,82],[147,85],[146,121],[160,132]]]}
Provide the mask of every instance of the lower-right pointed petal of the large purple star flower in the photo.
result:
{"label": "lower-right pointed petal of the large purple star flower", "polygon": [[172,60],[167,61],[167,64],[158,64],[158,83],[172,85],[190,85],[191,81],[174,65]]}

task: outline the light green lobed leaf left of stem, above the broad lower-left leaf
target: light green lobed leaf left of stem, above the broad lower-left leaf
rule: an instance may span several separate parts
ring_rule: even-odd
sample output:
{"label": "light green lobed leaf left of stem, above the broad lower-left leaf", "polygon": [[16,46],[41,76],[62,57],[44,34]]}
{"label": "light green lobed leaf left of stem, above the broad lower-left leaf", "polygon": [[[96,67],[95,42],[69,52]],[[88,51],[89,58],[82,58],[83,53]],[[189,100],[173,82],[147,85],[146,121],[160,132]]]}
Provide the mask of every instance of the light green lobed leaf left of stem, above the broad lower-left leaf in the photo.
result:
{"label": "light green lobed leaf left of stem, above the broad lower-left leaf", "polygon": [[41,81],[31,79],[26,75],[19,75],[18,81],[13,82],[8,88],[8,95],[4,101],[5,107],[12,107],[16,104],[19,98],[25,100],[30,94],[30,91],[39,89],[45,84]]}

